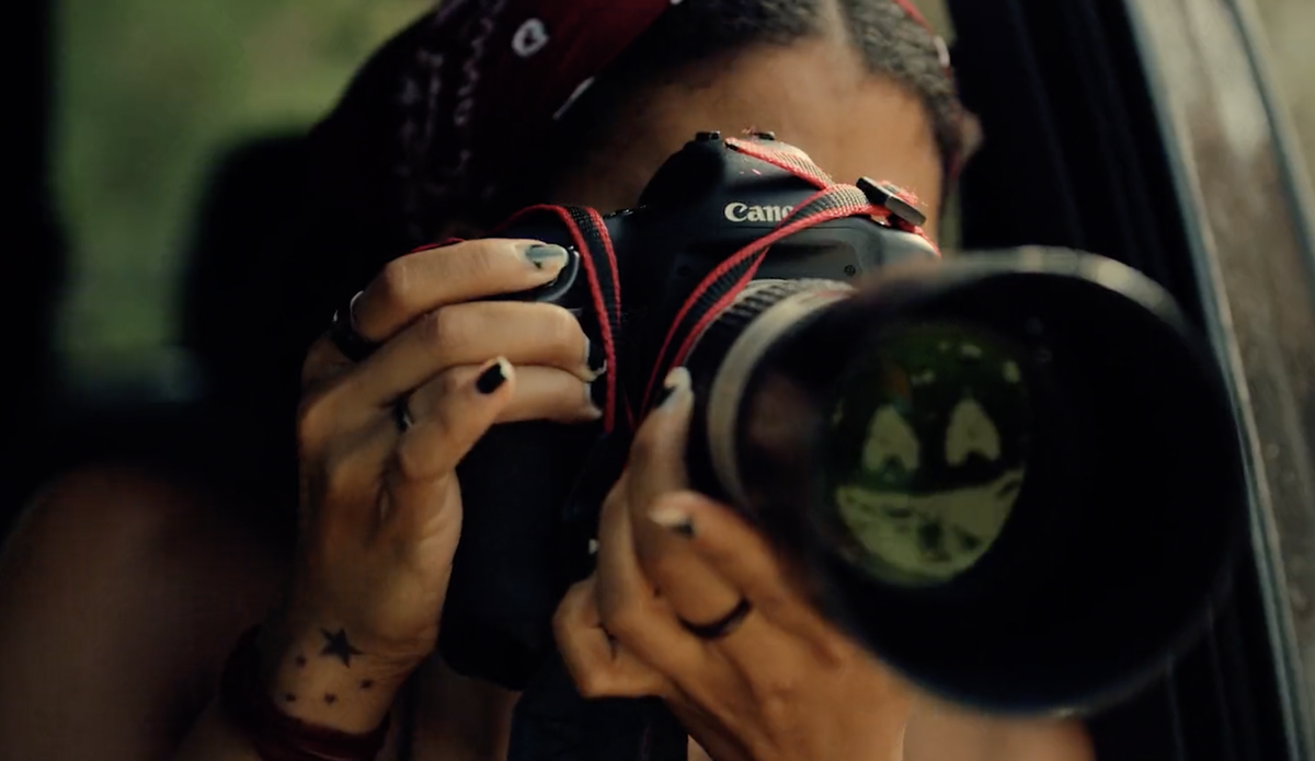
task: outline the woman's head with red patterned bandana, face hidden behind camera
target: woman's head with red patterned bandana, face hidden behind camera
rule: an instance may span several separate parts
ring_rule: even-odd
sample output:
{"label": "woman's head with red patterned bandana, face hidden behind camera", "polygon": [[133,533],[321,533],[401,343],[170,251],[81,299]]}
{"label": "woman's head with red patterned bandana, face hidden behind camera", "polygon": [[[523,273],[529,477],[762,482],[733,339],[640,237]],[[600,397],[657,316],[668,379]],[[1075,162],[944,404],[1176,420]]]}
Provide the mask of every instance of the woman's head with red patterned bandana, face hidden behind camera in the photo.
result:
{"label": "woman's head with red patterned bandana, face hidden behind camera", "polygon": [[773,130],[838,179],[935,206],[960,114],[944,46],[907,0],[447,0],[320,138],[347,205],[418,244],[533,202],[630,205],[706,129]]}

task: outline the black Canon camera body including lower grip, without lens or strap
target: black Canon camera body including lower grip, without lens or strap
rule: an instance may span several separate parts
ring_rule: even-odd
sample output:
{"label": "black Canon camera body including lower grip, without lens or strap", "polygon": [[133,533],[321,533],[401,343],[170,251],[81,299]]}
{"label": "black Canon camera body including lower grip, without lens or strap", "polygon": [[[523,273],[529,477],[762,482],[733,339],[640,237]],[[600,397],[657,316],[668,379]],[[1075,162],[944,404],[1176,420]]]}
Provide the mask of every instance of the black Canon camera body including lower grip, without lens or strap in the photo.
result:
{"label": "black Canon camera body including lower grip, without lens or strap", "polygon": [[[609,411],[625,428],[618,400],[630,401],[630,414],[642,414],[646,382],[681,304],[729,256],[772,234],[818,196],[821,183],[801,171],[819,175],[802,151],[768,133],[744,139],[701,133],[663,164],[634,209],[602,217],[588,209],[531,208],[497,230],[500,238],[556,243],[571,254],[552,284],[510,298],[572,310],[598,344],[609,327],[617,334],[610,338],[621,359],[610,359],[594,396],[600,409],[609,409],[608,384],[614,384]],[[838,216],[807,226],[771,246],[753,279],[847,281],[939,256],[919,229],[922,214],[898,188],[860,184],[885,214]],[[590,227],[600,225],[606,242],[589,239],[600,231]],[[614,256],[614,272],[598,272],[604,290],[610,285],[621,294],[611,326],[604,325],[606,310],[590,293],[589,251],[581,250],[590,243],[602,268],[609,263],[601,250]],[[551,615],[567,586],[588,573],[597,502],[623,464],[625,432],[613,431],[604,443],[600,436],[598,426],[500,426],[462,463],[468,507],[439,643],[458,670],[519,689],[554,651]]]}

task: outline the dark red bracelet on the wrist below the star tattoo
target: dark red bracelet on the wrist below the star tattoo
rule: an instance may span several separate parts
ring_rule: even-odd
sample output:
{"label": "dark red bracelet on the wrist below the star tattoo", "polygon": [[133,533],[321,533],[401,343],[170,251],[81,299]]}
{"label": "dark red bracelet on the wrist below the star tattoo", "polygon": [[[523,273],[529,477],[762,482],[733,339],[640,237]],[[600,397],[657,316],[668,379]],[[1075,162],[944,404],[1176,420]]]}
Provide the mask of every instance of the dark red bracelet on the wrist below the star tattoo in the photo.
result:
{"label": "dark red bracelet on the wrist below the star tattoo", "polygon": [[259,627],[238,640],[224,665],[220,704],[263,761],[373,761],[388,737],[388,716],[372,732],[316,727],[280,711],[260,680]]}

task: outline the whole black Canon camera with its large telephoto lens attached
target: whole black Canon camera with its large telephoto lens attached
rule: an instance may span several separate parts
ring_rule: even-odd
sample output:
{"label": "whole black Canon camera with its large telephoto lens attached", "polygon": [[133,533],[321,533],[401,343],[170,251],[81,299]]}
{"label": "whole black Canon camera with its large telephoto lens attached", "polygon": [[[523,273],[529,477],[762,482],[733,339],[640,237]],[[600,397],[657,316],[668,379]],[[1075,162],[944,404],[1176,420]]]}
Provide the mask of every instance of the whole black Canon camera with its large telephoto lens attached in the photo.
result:
{"label": "whole black Canon camera with its large telephoto lens attached", "polygon": [[806,574],[818,611],[924,689],[1093,710],[1206,624],[1241,535],[1231,397],[1145,276],[1094,255],[943,256],[910,195],[834,183],[768,133],[701,133],[634,209],[535,206],[568,248],[517,298],[571,309],[608,371],[596,426],[490,431],[439,648],[523,689],[661,379],[693,376],[694,486]]}

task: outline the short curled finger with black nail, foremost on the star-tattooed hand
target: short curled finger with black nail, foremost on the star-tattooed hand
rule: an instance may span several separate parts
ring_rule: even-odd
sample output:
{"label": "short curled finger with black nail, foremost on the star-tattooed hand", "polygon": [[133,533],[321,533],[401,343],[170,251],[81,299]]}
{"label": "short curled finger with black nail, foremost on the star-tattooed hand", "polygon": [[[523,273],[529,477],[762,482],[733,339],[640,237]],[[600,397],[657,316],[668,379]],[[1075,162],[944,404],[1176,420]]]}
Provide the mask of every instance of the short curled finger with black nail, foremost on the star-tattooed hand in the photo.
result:
{"label": "short curled finger with black nail, foremost on the star-tattooed hand", "polygon": [[396,472],[402,482],[427,482],[451,474],[488,431],[515,393],[515,371],[498,357],[452,393],[437,400],[397,442]]}

